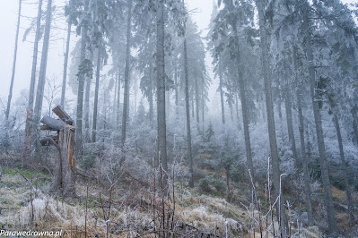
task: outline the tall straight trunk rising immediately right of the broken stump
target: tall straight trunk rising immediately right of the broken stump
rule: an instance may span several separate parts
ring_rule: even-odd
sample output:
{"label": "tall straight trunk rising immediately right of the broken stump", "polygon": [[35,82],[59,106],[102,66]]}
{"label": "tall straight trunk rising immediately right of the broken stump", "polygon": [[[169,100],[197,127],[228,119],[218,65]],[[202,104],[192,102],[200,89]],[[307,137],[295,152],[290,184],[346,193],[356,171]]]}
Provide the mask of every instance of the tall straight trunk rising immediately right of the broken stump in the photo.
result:
{"label": "tall straight trunk rising immediately right of the broken stump", "polygon": [[[86,14],[88,12],[89,0],[85,0],[84,2],[84,16],[83,18],[87,18]],[[88,25],[83,19],[84,24],[81,30],[81,55],[80,62],[81,64],[85,64],[86,61],[86,38],[87,38],[87,30]],[[83,123],[83,90],[84,90],[84,72],[81,72],[79,69],[78,72],[78,89],[77,89],[77,111],[76,111],[76,131],[75,131],[75,151],[76,158],[80,161],[83,159],[83,135],[82,135],[82,123]]]}

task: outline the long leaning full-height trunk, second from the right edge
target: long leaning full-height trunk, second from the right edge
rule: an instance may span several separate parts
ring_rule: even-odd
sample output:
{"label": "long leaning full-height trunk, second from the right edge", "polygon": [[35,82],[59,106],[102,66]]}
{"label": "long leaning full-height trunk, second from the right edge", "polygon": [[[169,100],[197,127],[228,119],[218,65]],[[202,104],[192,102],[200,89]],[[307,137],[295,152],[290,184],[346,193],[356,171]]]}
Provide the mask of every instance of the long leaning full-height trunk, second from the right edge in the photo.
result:
{"label": "long leaning full-height trunk, second from the right edge", "polygon": [[327,224],[328,224],[329,233],[337,234],[338,230],[336,227],[336,217],[335,217],[335,208],[333,206],[333,200],[332,200],[332,191],[329,183],[325,140],[323,136],[322,120],[319,111],[319,101],[316,93],[316,72],[313,64],[313,52],[311,47],[311,33],[310,33],[310,20],[309,20],[310,4],[306,2],[303,8],[304,8],[303,30],[304,32],[306,32],[306,35],[304,36],[303,47],[305,48],[305,53],[307,55],[307,63],[309,66],[310,97],[312,99],[313,115],[314,115],[317,140],[318,140],[317,142],[319,145],[319,161],[320,161],[320,168],[322,173],[323,189],[325,193],[325,205],[327,209]]}

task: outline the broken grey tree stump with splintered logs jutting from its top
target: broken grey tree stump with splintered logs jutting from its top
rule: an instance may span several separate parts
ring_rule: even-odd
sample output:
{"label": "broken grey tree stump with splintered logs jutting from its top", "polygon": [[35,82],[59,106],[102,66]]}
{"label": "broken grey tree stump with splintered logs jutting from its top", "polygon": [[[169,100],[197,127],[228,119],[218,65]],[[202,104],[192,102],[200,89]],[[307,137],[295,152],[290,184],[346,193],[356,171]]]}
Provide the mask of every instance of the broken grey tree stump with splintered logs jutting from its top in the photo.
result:
{"label": "broken grey tree stump with splintered logs jutting from its top", "polygon": [[74,190],[74,121],[65,111],[56,106],[52,110],[59,118],[44,116],[41,119],[41,130],[57,131],[40,140],[42,146],[54,145],[58,151],[59,163],[56,164],[53,187],[62,191],[63,197],[73,197]]}

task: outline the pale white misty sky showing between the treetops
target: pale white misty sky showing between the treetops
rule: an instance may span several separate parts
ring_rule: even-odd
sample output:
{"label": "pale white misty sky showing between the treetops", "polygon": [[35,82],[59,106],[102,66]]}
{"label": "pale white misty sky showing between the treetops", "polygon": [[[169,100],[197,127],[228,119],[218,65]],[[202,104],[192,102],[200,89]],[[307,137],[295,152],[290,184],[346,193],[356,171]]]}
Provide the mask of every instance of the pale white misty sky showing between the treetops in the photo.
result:
{"label": "pale white misty sky showing between the treetops", "polygon": [[[17,24],[18,2],[17,0],[5,0],[2,1],[2,7],[0,8],[0,29],[3,32],[3,36],[0,38],[1,56],[0,56],[0,111],[4,110],[4,106],[7,103],[7,96],[9,93],[10,80],[13,68],[13,49],[14,39]],[[21,29],[19,36],[18,54],[16,72],[13,84],[13,102],[20,96],[22,89],[29,89],[31,78],[31,63],[32,63],[32,47],[34,34],[31,34],[27,40],[23,42],[22,36],[30,26],[29,17],[35,17],[37,14],[36,0],[22,0],[22,19]],[[53,4],[64,4],[65,0],[54,0]],[[188,0],[188,9],[196,9],[196,13],[193,13],[193,19],[196,21],[200,30],[205,32],[210,21],[212,13],[212,0]],[[46,8],[46,2],[44,1],[42,9]],[[61,9],[57,9],[59,13],[63,12]],[[64,20],[57,20],[56,24],[59,28],[65,28]],[[48,70],[47,77],[57,77],[57,81],[62,81],[62,71],[65,52],[65,30],[52,30],[52,42],[50,42],[48,51]],[[55,40],[54,40],[55,38]],[[72,37],[74,40],[74,37]],[[72,43],[74,41],[72,40]],[[72,44],[74,46],[74,44]],[[42,48],[42,42],[39,43],[39,50]],[[40,52],[39,52],[40,59]],[[211,60],[208,60],[211,63]],[[39,65],[39,61],[38,61]],[[208,65],[211,66],[211,65]],[[70,91],[70,90],[68,90]],[[27,95],[27,94],[26,94]],[[27,96],[26,96],[27,97]]]}

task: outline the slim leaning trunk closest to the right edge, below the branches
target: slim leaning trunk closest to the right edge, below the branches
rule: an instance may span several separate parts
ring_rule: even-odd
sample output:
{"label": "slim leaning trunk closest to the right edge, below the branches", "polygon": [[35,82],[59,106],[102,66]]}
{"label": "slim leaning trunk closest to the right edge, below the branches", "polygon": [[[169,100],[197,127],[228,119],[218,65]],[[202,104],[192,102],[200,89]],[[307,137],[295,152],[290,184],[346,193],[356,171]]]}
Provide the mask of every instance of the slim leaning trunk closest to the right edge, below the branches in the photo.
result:
{"label": "slim leaning trunk closest to the right edge, below the branches", "polygon": [[341,166],[342,166],[341,169],[345,177],[345,195],[346,195],[347,206],[348,206],[349,220],[350,220],[350,224],[354,225],[354,213],[353,213],[354,207],[352,203],[351,190],[349,188],[349,182],[348,182],[348,169],[345,163],[345,151],[343,149],[341,128],[339,126],[338,116],[336,114],[334,115],[333,120],[335,121],[335,126],[336,126],[336,137],[338,139],[339,156],[341,157]]}

